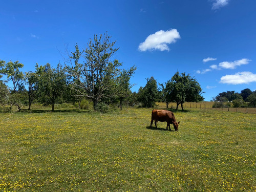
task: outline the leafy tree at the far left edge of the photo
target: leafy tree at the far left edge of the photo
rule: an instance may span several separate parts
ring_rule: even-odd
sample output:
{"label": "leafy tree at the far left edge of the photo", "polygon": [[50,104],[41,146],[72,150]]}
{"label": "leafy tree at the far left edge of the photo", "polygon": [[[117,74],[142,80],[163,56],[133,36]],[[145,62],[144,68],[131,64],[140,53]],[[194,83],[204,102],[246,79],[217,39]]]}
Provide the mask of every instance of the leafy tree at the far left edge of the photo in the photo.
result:
{"label": "leafy tree at the far left edge of the photo", "polygon": [[[16,92],[20,87],[23,86],[24,74],[19,69],[23,68],[23,64],[18,61],[5,62],[1,61],[2,65],[2,74],[7,76],[7,82],[12,81],[13,90],[12,92]],[[4,65],[4,67],[3,67]]]}

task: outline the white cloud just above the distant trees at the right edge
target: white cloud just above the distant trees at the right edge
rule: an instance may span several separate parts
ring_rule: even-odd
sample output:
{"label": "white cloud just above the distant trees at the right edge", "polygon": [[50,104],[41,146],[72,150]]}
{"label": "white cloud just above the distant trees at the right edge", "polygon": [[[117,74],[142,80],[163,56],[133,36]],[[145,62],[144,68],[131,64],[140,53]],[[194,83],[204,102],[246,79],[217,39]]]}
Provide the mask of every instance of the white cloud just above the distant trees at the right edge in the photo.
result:
{"label": "white cloud just above the distant trees at the right edge", "polygon": [[256,82],[256,74],[244,71],[234,75],[225,75],[221,77],[220,82],[227,84],[248,84],[250,82]]}

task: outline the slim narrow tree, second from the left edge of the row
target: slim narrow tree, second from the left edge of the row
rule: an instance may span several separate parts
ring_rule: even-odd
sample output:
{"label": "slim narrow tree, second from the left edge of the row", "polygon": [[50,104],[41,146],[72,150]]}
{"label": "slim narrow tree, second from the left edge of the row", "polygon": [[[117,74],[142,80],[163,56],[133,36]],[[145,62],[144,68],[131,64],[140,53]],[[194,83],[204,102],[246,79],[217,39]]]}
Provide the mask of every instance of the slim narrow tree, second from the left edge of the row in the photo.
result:
{"label": "slim narrow tree, second from the left edge of the row", "polygon": [[[36,63],[36,67],[38,67],[37,63]],[[31,71],[26,72],[25,79],[26,79],[26,84],[28,85],[28,99],[29,99],[28,110],[30,110],[31,104],[36,97],[36,91],[38,89],[38,80],[39,80],[38,74]]]}

